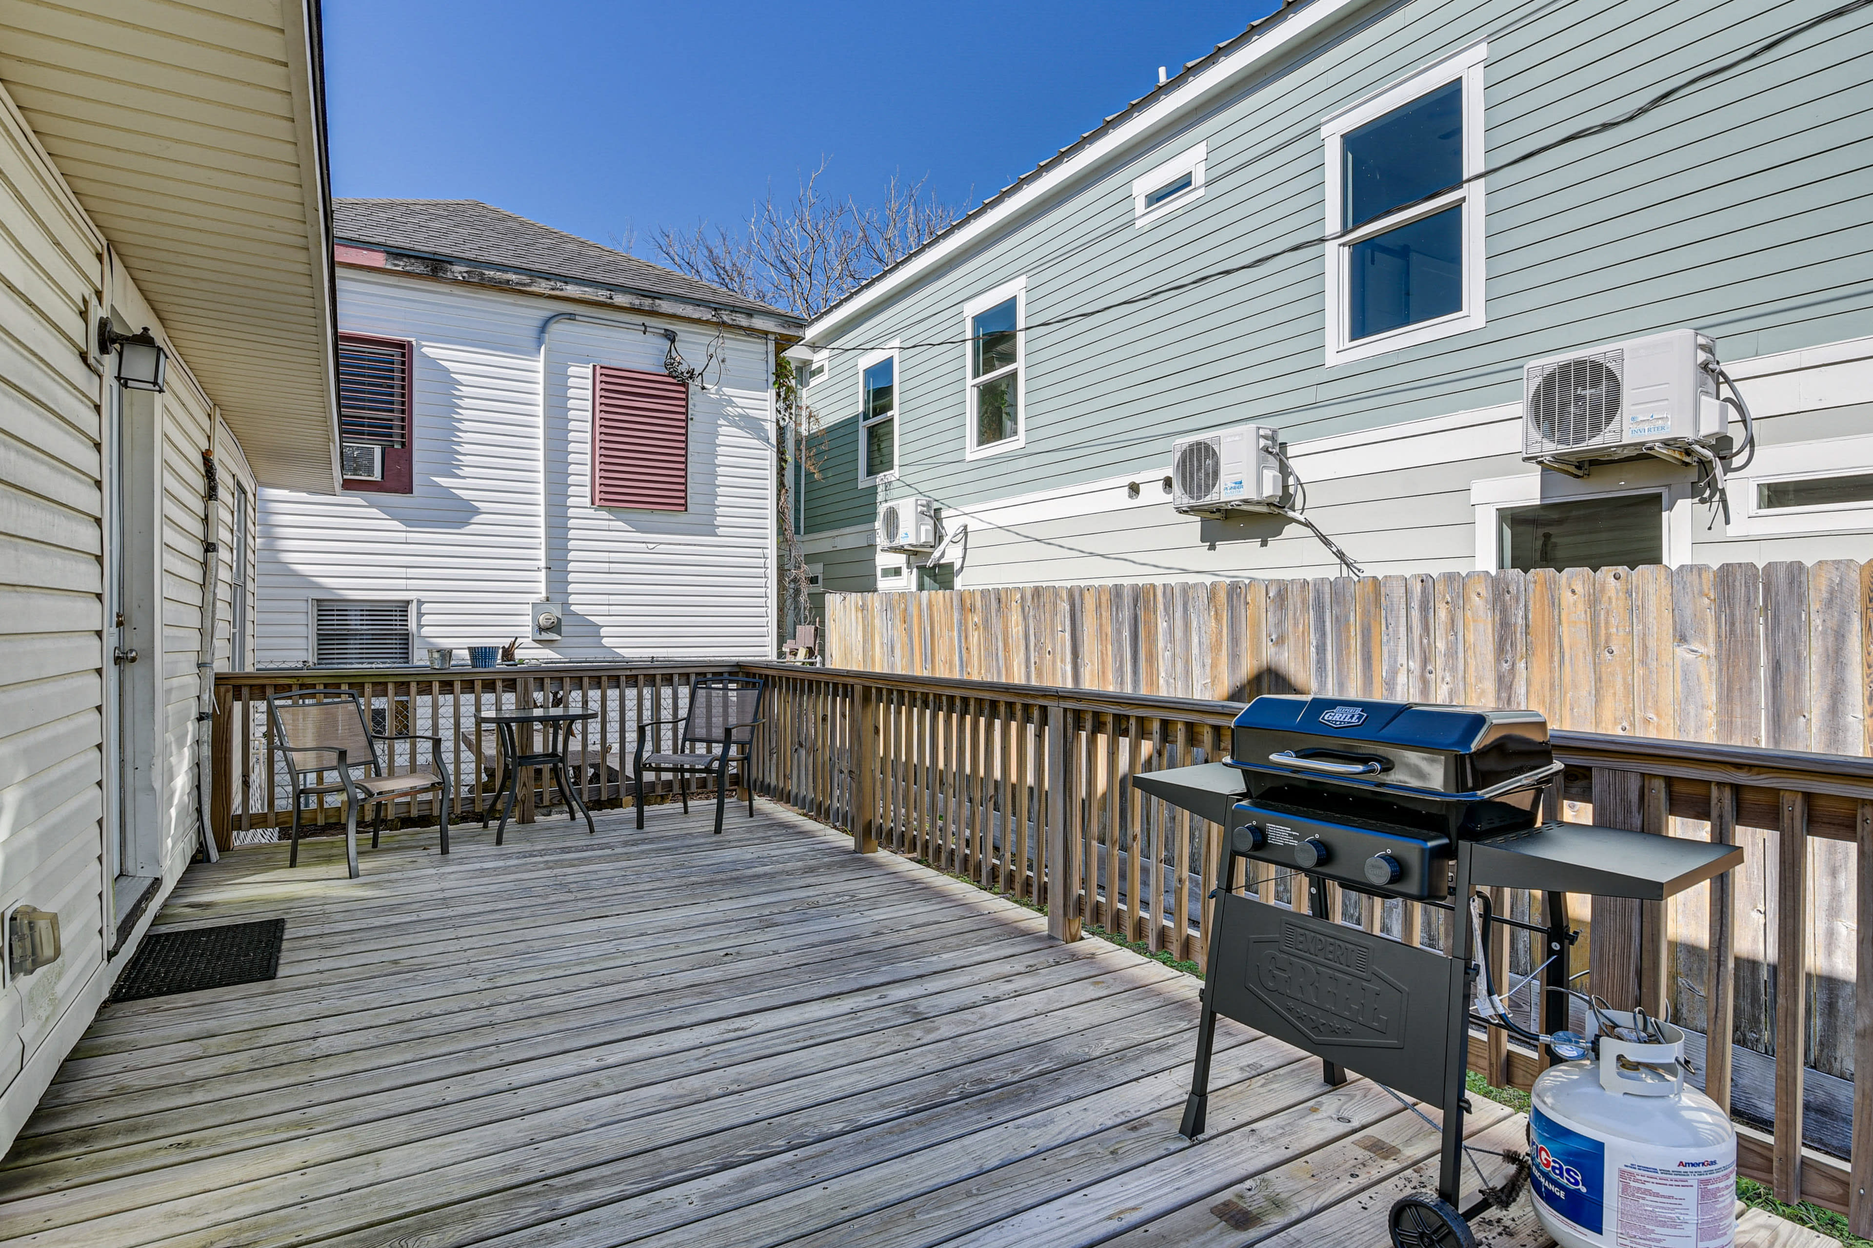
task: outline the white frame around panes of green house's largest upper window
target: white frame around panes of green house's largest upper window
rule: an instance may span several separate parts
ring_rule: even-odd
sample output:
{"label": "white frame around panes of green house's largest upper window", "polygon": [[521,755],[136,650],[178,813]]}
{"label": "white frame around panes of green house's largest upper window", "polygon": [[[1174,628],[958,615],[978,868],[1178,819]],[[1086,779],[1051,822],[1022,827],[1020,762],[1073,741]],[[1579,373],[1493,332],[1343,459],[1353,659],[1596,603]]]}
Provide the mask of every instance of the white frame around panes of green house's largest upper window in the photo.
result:
{"label": "white frame around panes of green house's largest upper window", "polygon": [[[1328,238],[1339,234],[1341,221],[1345,219],[1341,210],[1341,200],[1345,196],[1345,185],[1341,183],[1345,174],[1341,140],[1349,131],[1354,131],[1367,122],[1375,122],[1394,109],[1408,105],[1425,92],[1437,90],[1448,82],[1463,82],[1463,176],[1470,178],[1485,167],[1483,62],[1487,56],[1489,45],[1474,43],[1455,56],[1444,58],[1427,69],[1420,69],[1408,79],[1384,88],[1377,95],[1332,114],[1320,123],[1320,142],[1324,146],[1326,167],[1324,226]],[[1386,333],[1352,339],[1347,324],[1352,305],[1349,271],[1352,249],[1369,238],[1457,206],[1463,210],[1463,307],[1448,316],[1438,316],[1437,320],[1422,320],[1410,326],[1399,326],[1397,329],[1390,329]],[[1429,204],[1420,204],[1412,210],[1367,221],[1345,238],[1326,243],[1326,367],[1332,369],[1356,359],[1399,352],[1407,346],[1448,339],[1457,333],[1470,333],[1472,329],[1482,329],[1489,324],[1483,311],[1483,183],[1470,181],[1450,195],[1431,200]]]}

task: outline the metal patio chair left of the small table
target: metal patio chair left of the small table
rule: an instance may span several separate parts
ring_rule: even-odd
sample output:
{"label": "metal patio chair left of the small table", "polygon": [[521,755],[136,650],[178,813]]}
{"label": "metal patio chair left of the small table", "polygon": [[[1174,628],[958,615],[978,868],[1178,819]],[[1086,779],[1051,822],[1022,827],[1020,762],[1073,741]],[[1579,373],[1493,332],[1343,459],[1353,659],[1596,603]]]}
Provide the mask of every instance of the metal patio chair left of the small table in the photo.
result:
{"label": "metal patio chair left of the small table", "polygon": [[[455,791],[450,786],[450,769],[442,762],[442,737],[423,733],[378,733],[371,732],[365,717],[363,698],[350,689],[302,689],[290,694],[268,694],[266,713],[273,722],[273,748],[287,756],[287,773],[292,776],[292,853],[287,866],[300,864],[300,814],[305,797],[324,797],[326,793],[345,795],[345,864],[350,878],[358,878],[358,808],[375,803],[376,812],[371,823],[371,848],[376,849],[384,827],[384,803],[399,797],[412,797],[425,790],[442,790],[438,820],[442,825],[442,853],[450,851],[450,814],[453,814]],[[376,756],[378,741],[410,741],[412,769],[403,775],[386,775]],[[431,767],[418,771],[416,741],[429,743]],[[352,775],[369,767],[371,775]],[[337,773],[337,780],[328,782],[326,773]],[[307,778],[311,776],[311,782]]]}

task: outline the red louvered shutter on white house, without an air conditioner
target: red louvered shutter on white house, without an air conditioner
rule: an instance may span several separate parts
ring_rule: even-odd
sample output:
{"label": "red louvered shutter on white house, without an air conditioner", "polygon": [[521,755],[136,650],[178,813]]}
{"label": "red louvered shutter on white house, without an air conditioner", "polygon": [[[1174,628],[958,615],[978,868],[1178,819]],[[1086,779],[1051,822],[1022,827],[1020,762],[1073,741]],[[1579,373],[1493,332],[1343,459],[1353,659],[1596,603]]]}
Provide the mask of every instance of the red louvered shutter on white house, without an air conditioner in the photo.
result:
{"label": "red louvered shutter on white house, without an air conditioner", "polygon": [[592,505],[689,511],[689,387],[592,365]]}

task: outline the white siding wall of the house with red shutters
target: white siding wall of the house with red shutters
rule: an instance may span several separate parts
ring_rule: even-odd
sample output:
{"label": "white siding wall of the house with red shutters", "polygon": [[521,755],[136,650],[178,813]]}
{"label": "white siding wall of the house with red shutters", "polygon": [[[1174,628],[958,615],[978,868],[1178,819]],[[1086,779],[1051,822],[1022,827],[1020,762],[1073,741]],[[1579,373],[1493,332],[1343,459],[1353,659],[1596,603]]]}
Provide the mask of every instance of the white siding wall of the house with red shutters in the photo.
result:
{"label": "white siding wall of the house with red shutters", "polygon": [[[339,329],[414,341],[412,494],[260,490],[260,666],[313,659],[311,599],[414,601],[414,646],[502,646],[534,659],[774,653],[774,449],[768,342],[729,331],[721,384],[689,391],[686,513],[592,507],[592,365],[663,372],[652,324],[556,322],[539,442],[539,326],[614,312],[459,283],[339,268]],[[714,329],[669,322],[701,359]],[[547,584],[541,584],[545,462]],[[530,604],[566,604],[534,644]]]}

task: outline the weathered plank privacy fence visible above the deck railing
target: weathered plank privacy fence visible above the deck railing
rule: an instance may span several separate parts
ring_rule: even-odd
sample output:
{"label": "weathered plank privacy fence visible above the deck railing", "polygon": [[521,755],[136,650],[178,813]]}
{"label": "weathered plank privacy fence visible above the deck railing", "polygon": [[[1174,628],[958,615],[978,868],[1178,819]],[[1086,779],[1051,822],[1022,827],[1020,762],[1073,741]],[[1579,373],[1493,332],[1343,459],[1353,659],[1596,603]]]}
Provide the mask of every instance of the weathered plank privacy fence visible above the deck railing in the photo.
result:
{"label": "weathered plank privacy fence visible above the deck railing", "polygon": [[1247,702],[1528,707],[1555,728],[1873,752],[1873,563],[833,593],[835,668]]}

